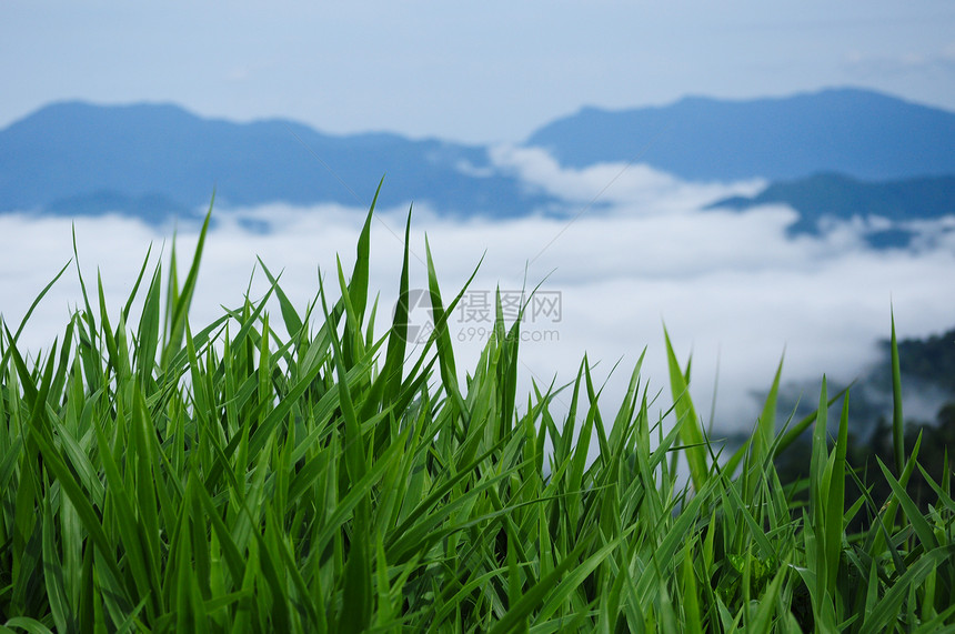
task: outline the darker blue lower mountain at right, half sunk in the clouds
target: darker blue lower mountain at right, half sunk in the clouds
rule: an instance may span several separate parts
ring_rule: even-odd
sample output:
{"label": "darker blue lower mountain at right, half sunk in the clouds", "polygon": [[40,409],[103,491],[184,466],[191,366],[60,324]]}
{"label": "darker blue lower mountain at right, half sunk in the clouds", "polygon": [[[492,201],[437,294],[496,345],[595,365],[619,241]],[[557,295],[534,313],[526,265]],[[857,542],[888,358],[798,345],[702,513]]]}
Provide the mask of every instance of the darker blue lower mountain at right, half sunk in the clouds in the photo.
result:
{"label": "darker blue lower mountain at right, half sunk in the clouds", "polygon": [[765,204],[786,204],[800,212],[800,219],[790,227],[791,233],[818,234],[824,219],[883,219],[888,225],[869,235],[869,242],[875,246],[901,246],[912,237],[904,227],[907,222],[955,215],[955,175],[865,182],[820,173],[772,183],[751,198],[718,200],[707,209],[742,211]]}

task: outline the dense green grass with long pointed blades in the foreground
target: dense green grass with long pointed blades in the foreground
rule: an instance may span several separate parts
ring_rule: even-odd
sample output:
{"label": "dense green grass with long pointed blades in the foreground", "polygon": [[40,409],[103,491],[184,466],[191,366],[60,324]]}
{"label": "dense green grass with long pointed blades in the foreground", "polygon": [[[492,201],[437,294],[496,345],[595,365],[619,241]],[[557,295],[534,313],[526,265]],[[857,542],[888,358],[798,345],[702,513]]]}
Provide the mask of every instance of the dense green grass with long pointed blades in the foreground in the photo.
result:
{"label": "dense green grass with long pointed blades in the foreground", "polygon": [[[777,433],[777,373],[751,440],[718,455],[668,338],[663,415],[640,363],[602,411],[584,360],[555,419],[554,386],[516,393],[500,300],[461,381],[462,295],[430,253],[428,345],[409,358],[404,301],[373,332],[372,212],[334,303],[294,306],[263,263],[261,300],[191,323],[207,220],[181,285],[174,250],[119,311],[83,283],[39,355],[2,325],[2,631],[955,631],[951,470],[919,512],[918,443],[882,465],[885,505],[847,501],[848,394],[823,380],[817,412]],[[806,430],[811,475],[784,487],[773,457]],[[860,513],[872,527],[847,533]]]}

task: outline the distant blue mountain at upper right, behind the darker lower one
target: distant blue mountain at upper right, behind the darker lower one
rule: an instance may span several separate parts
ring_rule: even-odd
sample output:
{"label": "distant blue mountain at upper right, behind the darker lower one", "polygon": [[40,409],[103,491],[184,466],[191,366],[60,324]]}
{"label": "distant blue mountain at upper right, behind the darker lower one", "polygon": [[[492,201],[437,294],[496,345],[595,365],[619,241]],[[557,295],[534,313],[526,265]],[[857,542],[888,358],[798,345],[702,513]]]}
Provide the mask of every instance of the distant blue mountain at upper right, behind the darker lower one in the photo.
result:
{"label": "distant blue mountain at upper right, behind the darker lower one", "polygon": [[526,145],[565,164],[641,162],[694,181],[867,180],[955,173],[955,113],[860,89],[778,99],[686,98],[662,108],[585,108]]}

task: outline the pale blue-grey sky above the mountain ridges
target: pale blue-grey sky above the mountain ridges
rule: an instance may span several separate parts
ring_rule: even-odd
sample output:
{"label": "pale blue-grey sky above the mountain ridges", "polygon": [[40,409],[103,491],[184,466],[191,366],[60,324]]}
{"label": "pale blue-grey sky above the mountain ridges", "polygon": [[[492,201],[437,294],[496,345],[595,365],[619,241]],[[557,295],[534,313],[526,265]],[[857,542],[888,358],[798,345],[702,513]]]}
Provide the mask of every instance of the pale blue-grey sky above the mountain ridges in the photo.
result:
{"label": "pale blue-grey sky above the mountain ridges", "polygon": [[328,132],[515,142],[584,104],[860,85],[955,110],[951,0],[3,0],[0,125],[173,101]]}

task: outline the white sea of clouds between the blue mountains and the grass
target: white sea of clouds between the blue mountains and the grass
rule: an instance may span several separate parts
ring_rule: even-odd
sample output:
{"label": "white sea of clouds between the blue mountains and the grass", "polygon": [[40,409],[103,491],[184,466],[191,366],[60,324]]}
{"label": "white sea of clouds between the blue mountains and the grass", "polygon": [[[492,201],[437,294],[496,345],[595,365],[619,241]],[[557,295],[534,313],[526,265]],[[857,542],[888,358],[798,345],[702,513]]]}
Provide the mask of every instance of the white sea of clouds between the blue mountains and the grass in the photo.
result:
{"label": "white sea of clouds between the blue mountains and the grass", "polygon": [[[606,382],[603,401],[613,409],[645,350],[642,375],[651,394],[664,391],[654,406],[666,410],[672,401],[665,324],[681,362],[692,354],[697,412],[710,422],[712,410],[718,430],[744,431],[760,411],[754,393],[770,386],[784,353],[784,382],[818,384],[823,373],[846,382],[878,359],[876,342],[888,336],[891,309],[899,336],[955,325],[952,219],[923,223],[921,231],[933,239],[921,246],[876,251],[858,221],[832,224],[820,237],[790,238],[786,227],[796,212],[786,207],[703,211],[721,198],[757,192],[760,181],[688,183],[642,164],[569,170],[541,150],[499,148],[493,155],[500,169],[520,174],[527,187],[567,201],[567,215],[461,220],[415,204],[411,285],[426,288],[425,237],[446,298],[482,262],[450,321],[463,376],[491,328],[482,302],[500,288],[513,303],[522,289],[540,284],[541,301],[532,302],[536,308],[524,329],[519,402],[532,381],[543,388],[572,381],[586,354],[595,378]],[[336,259],[350,274],[365,212],[282,204],[214,211],[193,330],[218,318],[220,305],[239,305],[250,278],[253,299],[261,296],[268,283],[261,272],[252,275],[257,258],[282,272],[282,288],[300,308],[314,299],[320,274],[336,296]],[[408,207],[381,210],[373,223],[371,289],[380,293],[380,333],[396,299],[406,213]],[[253,223],[268,231],[245,229]],[[73,228],[87,284],[92,290],[101,275],[113,315],[129,296],[150,244],[152,262],[168,265],[171,227],[158,230],[117,215],[2,214],[0,313],[11,331],[72,258]],[[195,225],[178,228],[180,279],[197,234]],[[38,306],[21,345],[48,348],[81,303],[73,264]],[[278,318],[278,309],[273,312]],[[412,316],[426,326],[426,310]],[[555,406],[569,402],[564,393]]]}

